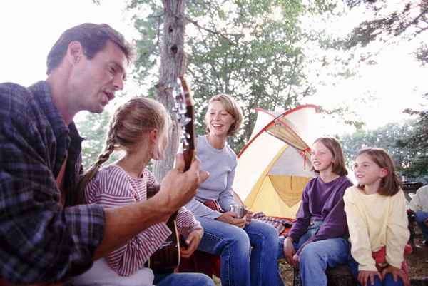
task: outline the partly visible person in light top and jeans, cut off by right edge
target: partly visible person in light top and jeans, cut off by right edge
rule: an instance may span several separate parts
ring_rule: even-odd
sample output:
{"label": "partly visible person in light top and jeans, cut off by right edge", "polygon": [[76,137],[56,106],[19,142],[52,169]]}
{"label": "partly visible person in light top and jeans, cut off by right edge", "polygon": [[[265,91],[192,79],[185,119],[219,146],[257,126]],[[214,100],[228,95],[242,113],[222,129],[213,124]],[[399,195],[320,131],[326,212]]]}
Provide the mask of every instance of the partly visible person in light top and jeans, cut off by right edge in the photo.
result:
{"label": "partly visible person in light top and jeans, cut off by right edge", "polygon": [[416,223],[422,230],[423,244],[428,246],[428,185],[416,191],[416,195],[409,203],[409,208],[414,212]]}

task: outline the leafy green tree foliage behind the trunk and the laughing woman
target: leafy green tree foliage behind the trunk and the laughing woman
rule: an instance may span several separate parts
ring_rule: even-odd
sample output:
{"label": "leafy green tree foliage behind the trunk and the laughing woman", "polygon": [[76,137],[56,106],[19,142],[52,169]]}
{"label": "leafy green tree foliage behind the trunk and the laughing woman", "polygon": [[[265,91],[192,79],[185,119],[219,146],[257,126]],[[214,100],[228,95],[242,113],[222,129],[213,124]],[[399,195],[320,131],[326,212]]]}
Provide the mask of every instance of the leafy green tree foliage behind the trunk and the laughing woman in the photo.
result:
{"label": "leafy green tree foliage behind the trunk and the laughing woman", "polygon": [[[255,108],[290,109],[311,96],[315,88],[305,73],[307,41],[300,29],[302,16],[320,14],[336,1],[300,0],[188,1],[186,27],[188,78],[195,98],[197,133],[205,133],[203,118],[208,99],[218,93],[232,94],[245,115],[243,128],[230,145],[239,151],[255,123]],[[163,7],[159,1],[132,1],[130,9],[147,11],[135,26],[136,77],[155,83],[160,62]],[[329,39],[323,41],[325,45]]]}

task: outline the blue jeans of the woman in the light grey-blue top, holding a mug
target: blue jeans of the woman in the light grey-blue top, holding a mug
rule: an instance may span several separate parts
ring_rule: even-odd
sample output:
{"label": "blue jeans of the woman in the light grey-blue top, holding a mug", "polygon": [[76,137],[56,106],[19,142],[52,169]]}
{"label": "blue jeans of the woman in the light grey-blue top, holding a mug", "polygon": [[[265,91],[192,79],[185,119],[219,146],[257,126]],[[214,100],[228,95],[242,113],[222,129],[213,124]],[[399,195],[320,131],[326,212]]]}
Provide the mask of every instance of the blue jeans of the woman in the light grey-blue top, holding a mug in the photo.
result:
{"label": "blue jeans of the woman in the light grey-blue top, holding a mug", "polygon": [[220,255],[222,286],[283,285],[278,272],[275,228],[258,220],[242,229],[210,218],[197,219],[204,228],[198,250]]}

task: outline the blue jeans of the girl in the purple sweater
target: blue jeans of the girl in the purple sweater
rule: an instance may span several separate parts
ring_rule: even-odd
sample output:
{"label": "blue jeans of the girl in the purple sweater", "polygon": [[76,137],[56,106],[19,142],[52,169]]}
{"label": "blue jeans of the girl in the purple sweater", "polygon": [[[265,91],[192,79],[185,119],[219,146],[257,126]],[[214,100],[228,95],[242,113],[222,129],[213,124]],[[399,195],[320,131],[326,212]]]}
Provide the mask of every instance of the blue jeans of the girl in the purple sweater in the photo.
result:
{"label": "blue jeans of the girl in the purple sweater", "polygon": [[[293,242],[295,250],[314,235],[322,225],[322,221],[315,221],[302,235],[298,242]],[[285,238],[280,238],[278,259],[285,258],[283,245]],[[330,238],[310,242],[299,255],[300,280],[303,286],[327,286],[327,267],[336,267],[346,264],[350,260],[350,243],[345,238]]]}

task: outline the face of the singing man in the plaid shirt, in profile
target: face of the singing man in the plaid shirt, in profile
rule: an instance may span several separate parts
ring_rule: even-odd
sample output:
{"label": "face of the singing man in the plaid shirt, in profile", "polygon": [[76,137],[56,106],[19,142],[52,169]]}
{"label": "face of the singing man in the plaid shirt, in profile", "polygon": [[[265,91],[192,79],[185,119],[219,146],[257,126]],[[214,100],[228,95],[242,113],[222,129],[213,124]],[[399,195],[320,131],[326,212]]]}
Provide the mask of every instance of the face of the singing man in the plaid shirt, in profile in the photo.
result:
{"label": "face of the singing man in the plaid shirt, in profile", "polygon": [[82,53],[71,71],[68,106],[76,113],[101,113],[116,91],[123,89],[127,67],[125,54],[111,41],[91,60]]}

